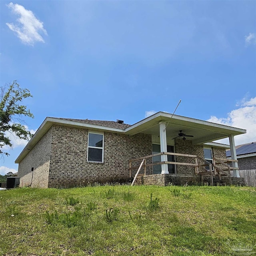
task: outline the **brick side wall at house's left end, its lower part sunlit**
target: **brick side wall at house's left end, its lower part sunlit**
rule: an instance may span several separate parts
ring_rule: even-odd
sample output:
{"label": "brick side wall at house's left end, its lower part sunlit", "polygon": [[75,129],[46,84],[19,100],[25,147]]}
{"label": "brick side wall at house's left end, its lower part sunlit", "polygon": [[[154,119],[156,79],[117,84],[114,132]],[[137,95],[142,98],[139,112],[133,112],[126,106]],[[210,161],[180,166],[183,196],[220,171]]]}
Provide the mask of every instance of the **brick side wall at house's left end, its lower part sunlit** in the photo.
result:
{"label": "brick side wall at house's left end, its lower part sunlit", "polygon": [[[23,158],[18,167],[20,186],[47,188],[50,166],[52,128],[44,134],[30,152]],[[31,168],[34,167],[34,171]]]}

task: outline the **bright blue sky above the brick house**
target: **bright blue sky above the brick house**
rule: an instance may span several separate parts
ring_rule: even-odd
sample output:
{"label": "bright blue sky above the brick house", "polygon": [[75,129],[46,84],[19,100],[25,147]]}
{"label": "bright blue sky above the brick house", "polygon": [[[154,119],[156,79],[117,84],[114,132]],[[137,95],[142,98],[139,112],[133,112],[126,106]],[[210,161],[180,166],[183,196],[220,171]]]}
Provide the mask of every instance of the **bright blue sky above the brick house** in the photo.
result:
{"label": "bright blue sky above the brick house", "polygon": [[[248,130],[256,141],[255,1],[0,1],[0,85],[46,116],[124,120],[158,111]],[[239,137],[239,138],[238,138]],[[0,173],[26,142],[13,140]],[[10,169],[8,169],[10,168]]]}

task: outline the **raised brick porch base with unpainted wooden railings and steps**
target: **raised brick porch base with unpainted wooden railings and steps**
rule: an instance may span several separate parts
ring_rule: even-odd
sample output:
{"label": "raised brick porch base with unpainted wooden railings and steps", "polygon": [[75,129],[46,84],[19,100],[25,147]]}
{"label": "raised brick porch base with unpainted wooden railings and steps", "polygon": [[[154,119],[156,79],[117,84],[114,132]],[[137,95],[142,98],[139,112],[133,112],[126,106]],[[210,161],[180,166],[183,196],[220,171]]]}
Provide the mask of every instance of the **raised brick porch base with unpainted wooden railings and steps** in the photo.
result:
{"label": "raised brick porch base with unpainted wooden railings and steps", "polygon": [[[173,161],[158,161],[153,162],[152,159],[156,156],[179,156],[186,159],[184,162]],[[174,158],[173,158],[174,159]],[[238,167],[231,166],[230,164],[237,163],[238,160],[232,159],[218,159],[213,157],[213,162],[201,158],[193,154],[179,154],[173,152],[160,152],[149,156],[132,159],[129,161],[129,174],[133,178],[132,185],[147,184],[147,185],[160,185],[165,186],[170,183],[174,185],[184,184],[244,184],[243,178],[232,177],[231,171],[238,171]],[[162,165],[177,165],[188,166],[194,168],[193,175],[179,175],[177,173],[161,173],[154,174],[154,166]],[[175,168],[176,169],[176,168]],[[132,177],[132,172],[136,170],[136,174]],[[151,172],[151,173],[150,173]]]}

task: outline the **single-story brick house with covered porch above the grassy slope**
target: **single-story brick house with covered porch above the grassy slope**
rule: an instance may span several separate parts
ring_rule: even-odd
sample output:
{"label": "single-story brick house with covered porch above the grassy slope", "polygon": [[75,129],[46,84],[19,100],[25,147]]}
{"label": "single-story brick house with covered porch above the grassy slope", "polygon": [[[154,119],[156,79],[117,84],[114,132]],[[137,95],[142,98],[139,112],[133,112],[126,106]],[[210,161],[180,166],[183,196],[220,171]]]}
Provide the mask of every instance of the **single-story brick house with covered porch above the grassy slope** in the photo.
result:
{"label": "single-story brick house with covered porch above the grassy slope", "polygon": [[[142,159],[146,184],[151,180],[152,184],[155,180],[166,184],[177,177],[186,181],[188,177],[198,180],[203,174],[212,175],[209,164],[215,164],[215,158],[226,159],[229,148],[212,141],[229,138],[234,179],[238,180],[234,136],[244,133],[243,129],[164,112],[133,125],[121,120],[47,117],[15,162],[19,164],[20,186],[58,188],[122,182],[134,177]],[[220,166],[214,168],[219,178],[220,173],[226,173]]]}

